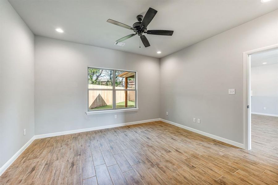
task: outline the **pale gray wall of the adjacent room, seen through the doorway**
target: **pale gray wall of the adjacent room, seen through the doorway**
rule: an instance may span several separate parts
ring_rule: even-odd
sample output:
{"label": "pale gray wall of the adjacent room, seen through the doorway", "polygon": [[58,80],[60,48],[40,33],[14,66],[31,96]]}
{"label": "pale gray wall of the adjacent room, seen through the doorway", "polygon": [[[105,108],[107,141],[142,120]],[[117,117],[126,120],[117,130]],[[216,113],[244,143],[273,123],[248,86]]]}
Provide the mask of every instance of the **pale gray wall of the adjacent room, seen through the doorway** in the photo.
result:
{"label": "pale gray wall of the adjacent room, seen through the doorway", "polygon": [[[251,57],[252,63],[252,57]],[[278,64],[251,68],[251,112],[278,116]],[[263,110],[263,107],[266,109]]]}

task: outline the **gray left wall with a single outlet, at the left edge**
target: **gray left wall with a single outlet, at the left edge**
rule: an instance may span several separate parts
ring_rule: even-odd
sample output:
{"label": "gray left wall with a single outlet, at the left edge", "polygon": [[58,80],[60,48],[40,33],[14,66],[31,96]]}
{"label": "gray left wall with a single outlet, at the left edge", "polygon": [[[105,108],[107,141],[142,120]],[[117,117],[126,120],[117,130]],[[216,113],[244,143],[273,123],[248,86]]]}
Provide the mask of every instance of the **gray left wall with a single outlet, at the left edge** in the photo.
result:
{"label": "gray left wall with a single outlet, at the left edge", "polygon": [[34,136],[34,35],[8,1],[1,0],[0,8],[2,167]]}

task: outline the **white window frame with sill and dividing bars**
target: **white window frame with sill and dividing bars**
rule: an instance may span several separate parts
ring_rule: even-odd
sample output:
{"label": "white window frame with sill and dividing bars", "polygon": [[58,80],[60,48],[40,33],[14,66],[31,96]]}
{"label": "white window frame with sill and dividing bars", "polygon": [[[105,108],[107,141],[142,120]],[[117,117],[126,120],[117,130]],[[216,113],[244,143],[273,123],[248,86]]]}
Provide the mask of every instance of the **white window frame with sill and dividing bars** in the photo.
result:
{"label": "white window frame with sill and dividing bars", "polygon": [[[94,68],[94,69],[103,69],[103,70],[112,70],[113,71],[113,85],[112,88],[88,88],[88,84],[89,84],[89,79],[88,79],[88,72],[89,72],[89,68]],[[116,89],[116,83],[115,83],[115,75],[116,75],[116,71],[123,71],[123,72],[134,72],[135,76],[134,76],[134,89]],[[131,71],[131,70],[124,70],[124,69],[111,69],[111,68],[99,68],[99,67],[91,67],[91,66],[87,66],[87,115],[91,115],[91,114],[99,114],[99,113],[116,113],[116,112],[129,112],[129,111],[137,111],[138,110],[138,105],[137,105],[137,100],[138,100],[138,96],[137,96],[137,71]],[[125,82],[126,83],[126,82]],[[113,91],[113,95],[112,95],[112,102],[113,102],[113,106],[112,109],[98,109],[98,110],[89,110],[89,91],[90,90],[99,90],[99,91]],[[135,91],[135,107],[126,107],[126,108],[122,108],[122,109],[116,109],[116,91]]]}

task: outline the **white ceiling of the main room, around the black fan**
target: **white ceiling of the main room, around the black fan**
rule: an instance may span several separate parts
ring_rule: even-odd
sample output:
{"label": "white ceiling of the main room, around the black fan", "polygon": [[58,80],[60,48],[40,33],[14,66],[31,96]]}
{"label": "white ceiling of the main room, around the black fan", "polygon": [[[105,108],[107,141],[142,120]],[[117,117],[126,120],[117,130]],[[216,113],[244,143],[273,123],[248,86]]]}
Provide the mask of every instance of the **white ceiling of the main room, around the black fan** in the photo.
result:
{"label": "white ceiling of the main room, around the black fan", "polygon": [[[35,35],[157,58],[278,9],[277,0],[266,3],[259,0],[9,2]],[[136,16],[144,15],[149,7],[158,13],[148,29],[174,30],[173,36],[146,35],[151,45],[147,48],[142,43],[139,48],[137,35],[125,40],[123,47],[114,45],[117,39],[133,31],[107,23],[107,19],[132,26],[137,22]],[[57,27],[65,32],[56,32]]]}

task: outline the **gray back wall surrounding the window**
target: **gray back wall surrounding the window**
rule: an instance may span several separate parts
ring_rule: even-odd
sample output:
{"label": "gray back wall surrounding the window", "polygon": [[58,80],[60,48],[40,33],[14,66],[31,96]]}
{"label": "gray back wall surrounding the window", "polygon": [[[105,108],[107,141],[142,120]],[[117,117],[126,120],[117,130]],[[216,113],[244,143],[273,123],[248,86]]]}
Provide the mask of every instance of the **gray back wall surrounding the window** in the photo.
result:
{"label": "gray back wall surrounding the window", "polygon": [[[35,61],[36,135],[159,118],[159,59],[35,36]],[[139,110],[86,115],[87,66],[138,71]]]}

